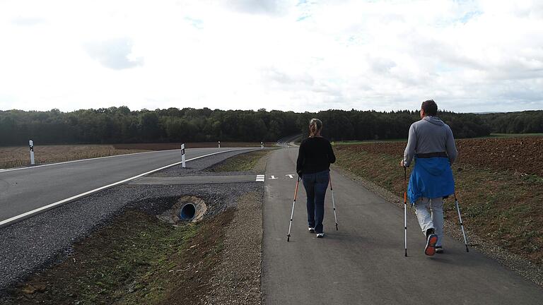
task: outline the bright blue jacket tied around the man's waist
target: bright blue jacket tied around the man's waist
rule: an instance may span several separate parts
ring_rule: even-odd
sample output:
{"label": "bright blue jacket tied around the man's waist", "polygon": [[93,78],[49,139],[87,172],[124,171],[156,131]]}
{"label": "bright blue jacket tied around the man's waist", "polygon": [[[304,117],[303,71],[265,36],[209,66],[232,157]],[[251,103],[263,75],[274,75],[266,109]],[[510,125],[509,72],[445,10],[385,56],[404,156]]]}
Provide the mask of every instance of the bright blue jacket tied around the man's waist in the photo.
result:
{"label": "bright blue jacket tied around the man's waist", "polygon": [[407,196],[411,205],[421,197],[438,198],[455,193],[455,179],[446,157],[417,158],[409,178]]}

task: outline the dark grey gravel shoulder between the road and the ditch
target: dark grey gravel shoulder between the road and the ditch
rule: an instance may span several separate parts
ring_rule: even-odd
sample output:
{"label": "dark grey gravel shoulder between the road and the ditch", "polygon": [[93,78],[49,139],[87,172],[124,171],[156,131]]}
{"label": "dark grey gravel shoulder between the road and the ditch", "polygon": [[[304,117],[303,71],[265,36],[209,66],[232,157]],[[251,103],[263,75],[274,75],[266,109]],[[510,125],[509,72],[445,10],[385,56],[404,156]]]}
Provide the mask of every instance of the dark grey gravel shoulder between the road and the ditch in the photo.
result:
{"label": "dark grey gravel shoulder between the road and the ditch", "polygon": [[[249,150],[236,150],[204,157],[187,162],[187,168],[178,165],[165,169],[165,172],[176,177],[194,176],[202,173],[200,172],[202,169],[247,151]],[[167,163],[168,160],[165,162]],[[140,169],[140,172],[145,170]],[[253,175],[251,177],[254,178]],[[59,189],[62,189],[62,185]],[[71,244],[74,241],[86,237],[93,229],[107,224],[124,209],[140,208],[159,214],[160,211],[170,208],[180,196],[190,195],[198,196],[206,201],[208,206],[206,214],[211,216],[233,205],[239,196],[261,189],[262,182],[254,181],[197,185],[121,184],[2,227],[0,228],[0,297],[7,287],[24,280],[32,273],[47,268],[52,263],[62,261],[71,251]]]}

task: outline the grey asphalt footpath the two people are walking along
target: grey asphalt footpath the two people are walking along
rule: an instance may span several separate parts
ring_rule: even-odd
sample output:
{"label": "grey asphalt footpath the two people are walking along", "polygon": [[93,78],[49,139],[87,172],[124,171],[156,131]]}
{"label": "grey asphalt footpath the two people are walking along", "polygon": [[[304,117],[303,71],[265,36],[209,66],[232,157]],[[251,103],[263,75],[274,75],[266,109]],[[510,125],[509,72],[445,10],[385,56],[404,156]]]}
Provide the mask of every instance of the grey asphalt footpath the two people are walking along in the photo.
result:
{"label": "grey asphalt footpath the two people are walking along", "polygon": [[333,171],[339,231],[328,189],[326,236],[308,232],[300,182],[287,242],[297,155],[297,148],[276,150],[267,164],[265,304],[542,304],[543,289],[474,249],[466,253],[454,239],[445,237],[445,253],[425,256],[414,215],[408,215],[409,257],[404,257],[403,210]]}

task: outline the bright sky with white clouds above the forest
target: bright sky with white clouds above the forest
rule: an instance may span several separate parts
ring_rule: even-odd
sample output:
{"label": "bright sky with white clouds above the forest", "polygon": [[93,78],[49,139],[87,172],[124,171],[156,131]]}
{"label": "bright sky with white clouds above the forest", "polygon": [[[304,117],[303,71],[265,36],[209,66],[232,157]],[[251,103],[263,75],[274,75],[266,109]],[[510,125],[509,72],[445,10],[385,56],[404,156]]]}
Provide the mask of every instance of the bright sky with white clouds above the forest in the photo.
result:
{"label": "bright sky with white clouds above the forest", "polygon": [[0,110],[543,109],[543,1],[0,0]]}

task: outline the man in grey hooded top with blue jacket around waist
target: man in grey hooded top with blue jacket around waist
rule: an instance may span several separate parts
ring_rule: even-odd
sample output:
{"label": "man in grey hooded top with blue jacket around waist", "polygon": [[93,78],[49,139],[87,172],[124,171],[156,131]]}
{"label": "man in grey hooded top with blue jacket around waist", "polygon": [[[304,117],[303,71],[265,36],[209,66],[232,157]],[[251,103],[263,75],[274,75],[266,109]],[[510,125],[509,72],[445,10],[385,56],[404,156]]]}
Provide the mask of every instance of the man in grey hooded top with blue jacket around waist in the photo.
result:
{"label": "man in grey hooded top with blue jacket around waist", "polygon": [[407,193],[426,236],[424,253],[428,256],[443,253],[443,197],[455,192],[450,165],[458,155],[452,131],[436,117],[437,113],[436,102],[422,103],[421,120],[411,124],[404,159],[400,161],[402,167],[409,167],[415,159]]}

